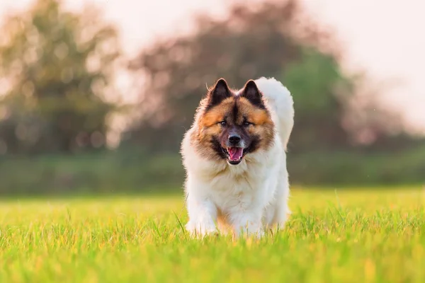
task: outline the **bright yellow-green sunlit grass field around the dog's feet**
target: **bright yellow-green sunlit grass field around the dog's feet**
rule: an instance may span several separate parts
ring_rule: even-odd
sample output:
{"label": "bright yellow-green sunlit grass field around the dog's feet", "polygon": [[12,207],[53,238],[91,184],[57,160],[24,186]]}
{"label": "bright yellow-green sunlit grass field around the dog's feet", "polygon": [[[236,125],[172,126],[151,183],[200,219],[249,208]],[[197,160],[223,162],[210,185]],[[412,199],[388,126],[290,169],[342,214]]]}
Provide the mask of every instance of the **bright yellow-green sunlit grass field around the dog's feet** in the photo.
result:
{"label": "bright yellow-green sunlit grass field around the dog's feet", "polygon": [[180,196],[5,200],[0,282],[425,282],[425,192],[294,190],[283,231],[195,240]]}

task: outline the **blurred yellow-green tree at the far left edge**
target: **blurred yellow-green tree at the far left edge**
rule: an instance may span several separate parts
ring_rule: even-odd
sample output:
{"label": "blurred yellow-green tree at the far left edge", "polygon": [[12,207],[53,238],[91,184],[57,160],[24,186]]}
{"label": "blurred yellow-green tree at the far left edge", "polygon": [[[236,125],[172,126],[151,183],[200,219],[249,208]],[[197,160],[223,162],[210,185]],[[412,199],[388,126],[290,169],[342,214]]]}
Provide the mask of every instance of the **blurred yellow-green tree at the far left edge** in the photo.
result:
{"label": "blurred yellow-green tree at the far left edge", "polygon": [[108,88],[120,49],[94,8],[37,0],[9,16],[0,38],[0,144],[9,153],[69,152],[104,144],[115,105]]}

